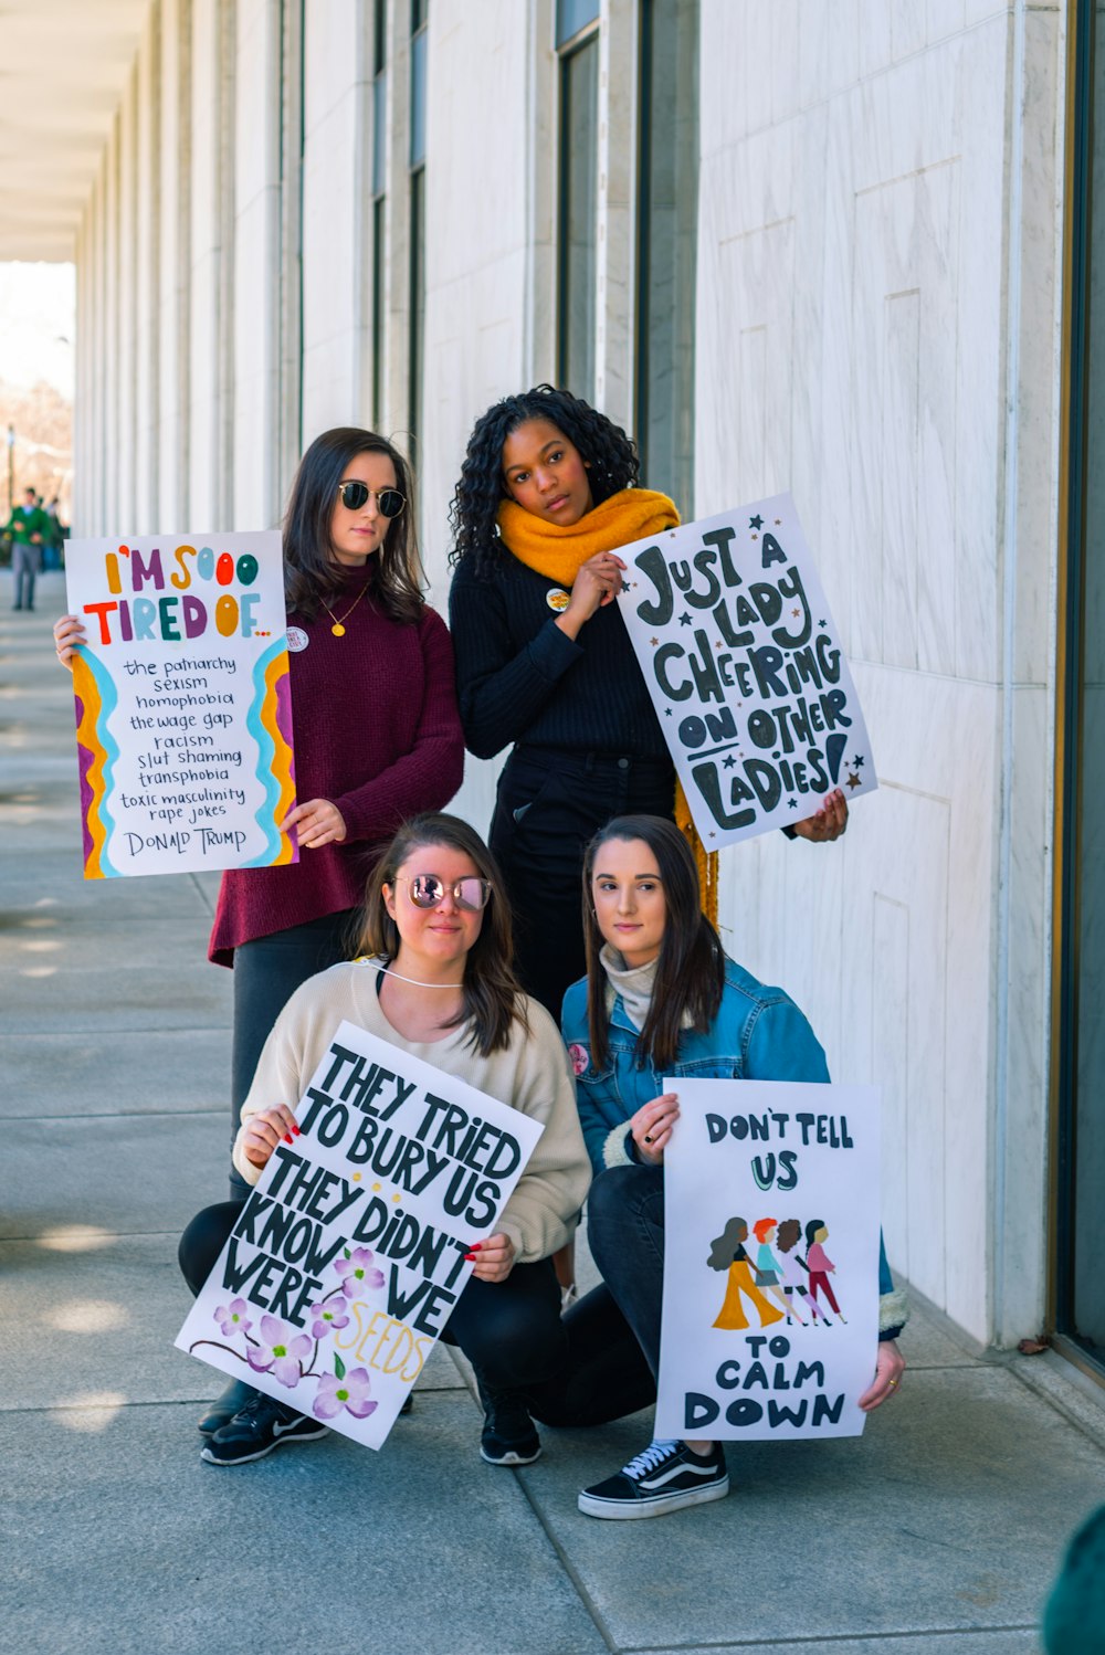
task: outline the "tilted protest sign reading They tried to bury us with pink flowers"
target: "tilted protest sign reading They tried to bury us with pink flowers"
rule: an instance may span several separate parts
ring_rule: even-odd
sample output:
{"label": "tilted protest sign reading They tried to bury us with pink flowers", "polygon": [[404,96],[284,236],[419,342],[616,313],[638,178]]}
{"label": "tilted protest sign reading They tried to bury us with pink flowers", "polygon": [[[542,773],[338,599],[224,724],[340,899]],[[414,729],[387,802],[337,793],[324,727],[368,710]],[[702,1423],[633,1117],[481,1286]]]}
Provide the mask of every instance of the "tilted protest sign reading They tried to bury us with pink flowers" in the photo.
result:
{"label": "tilted protest sign reading They tried to bury us with pink flowers", "polygon": [[544,1129],[344,1021],[296,1119],[175,1342],[379,1448]]}

